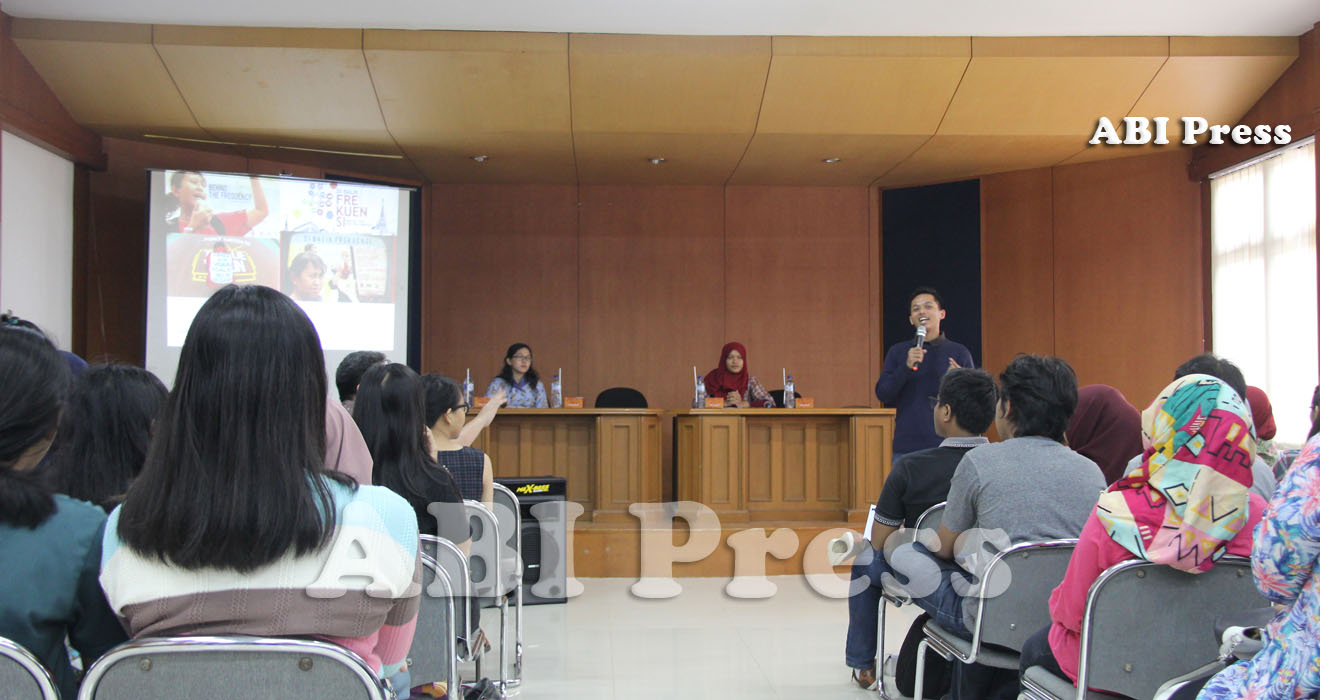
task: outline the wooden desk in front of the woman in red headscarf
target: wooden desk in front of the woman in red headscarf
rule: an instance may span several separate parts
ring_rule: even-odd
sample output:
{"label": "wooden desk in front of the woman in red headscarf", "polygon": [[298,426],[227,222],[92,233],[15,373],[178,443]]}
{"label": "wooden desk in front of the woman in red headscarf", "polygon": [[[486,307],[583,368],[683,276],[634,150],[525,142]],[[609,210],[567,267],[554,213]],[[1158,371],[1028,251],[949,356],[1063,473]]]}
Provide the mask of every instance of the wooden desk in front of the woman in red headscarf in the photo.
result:
{"label": "wooden desk in front of the woman in red headscarf", "polygon": [[721,520],[857,520],[890,473],[892,408],[673,413],[678,499]]}

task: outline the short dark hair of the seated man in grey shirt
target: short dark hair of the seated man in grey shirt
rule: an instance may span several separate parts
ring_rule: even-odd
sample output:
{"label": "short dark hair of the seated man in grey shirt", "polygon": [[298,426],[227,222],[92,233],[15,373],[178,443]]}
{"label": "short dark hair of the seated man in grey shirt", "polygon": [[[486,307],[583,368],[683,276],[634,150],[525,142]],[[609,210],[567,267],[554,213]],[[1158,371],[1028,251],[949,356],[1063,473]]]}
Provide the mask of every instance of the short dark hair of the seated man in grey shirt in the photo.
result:
{"label": "short dark hair of the seated man in grey shirt", "polygon": [[1077,409],[1077,372],[1053,355],[1018,355],[999,372],[1001,398],[1008,402],[1015,437],[1064,441]]}

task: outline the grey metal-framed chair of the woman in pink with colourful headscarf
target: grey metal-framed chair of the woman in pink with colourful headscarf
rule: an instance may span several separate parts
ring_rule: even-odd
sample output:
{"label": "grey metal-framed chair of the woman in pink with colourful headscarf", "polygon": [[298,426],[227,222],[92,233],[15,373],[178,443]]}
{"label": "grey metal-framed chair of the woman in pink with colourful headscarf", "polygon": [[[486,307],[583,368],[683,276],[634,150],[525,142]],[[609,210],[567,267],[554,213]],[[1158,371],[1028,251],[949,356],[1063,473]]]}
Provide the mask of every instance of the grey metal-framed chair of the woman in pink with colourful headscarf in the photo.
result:
{"label": "grey metal-framed chair of the woman in pink with colourful headscarf", "polygon": [[[1218,656],[1214,621],[1224,610],[1265,605],[1251,561],[1220,559],[1203,573],[1187,573],[1142,559],[1105,569],[1086,593],[1077,683],[1032,666],[1022,679],[1031,700],[1152,697],[1167,680]],[[1142,643],[1134,645],[1139,630]]]}

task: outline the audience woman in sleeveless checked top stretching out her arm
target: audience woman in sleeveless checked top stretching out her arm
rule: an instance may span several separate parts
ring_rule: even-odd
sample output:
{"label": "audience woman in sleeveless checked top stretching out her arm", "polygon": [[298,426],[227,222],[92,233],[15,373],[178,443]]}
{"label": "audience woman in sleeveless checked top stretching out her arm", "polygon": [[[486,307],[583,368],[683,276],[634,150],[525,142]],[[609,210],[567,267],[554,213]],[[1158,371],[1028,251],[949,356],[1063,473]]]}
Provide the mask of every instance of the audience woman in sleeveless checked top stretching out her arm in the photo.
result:
{"label": "audience woman in sleeveless checked top stretching out her arm", "polygon": [[[463,403],[463,388],[447,376],[428,374],[421,378],[425,392],[426,425],[430,431],[436,461],[454,475],[463,498],[480,501],[486,507],[495,503],[495,474],[491,458],[479,449],[471,448],[471,440],[463,441],[470,425],[478,424],[480,416],[467,420],[467,404]],[[486,408],[498,405],[491,399]],[[494,417],[491,411],[490,416]],[[488,420],[487,420],[488,423]],[[478,428],[479,429],[479,428]],[[475,437],[475,435],[473,436]]]}

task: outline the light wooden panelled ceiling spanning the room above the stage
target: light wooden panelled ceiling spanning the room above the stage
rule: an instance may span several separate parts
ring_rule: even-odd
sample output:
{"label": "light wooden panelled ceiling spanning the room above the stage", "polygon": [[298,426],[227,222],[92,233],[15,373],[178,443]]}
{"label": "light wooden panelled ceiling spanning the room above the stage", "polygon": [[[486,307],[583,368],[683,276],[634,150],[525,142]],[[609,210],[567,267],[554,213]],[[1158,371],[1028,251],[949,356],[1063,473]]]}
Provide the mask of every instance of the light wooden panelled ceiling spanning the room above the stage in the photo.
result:
{"label": "light wooden panelled ceiling spanning the room above the stage", "polygon": [[[333,160],[434,182],[904,186],[1122,157],[1147,149],[1088,148],[1100,116],[1234,123],[1298,54],[1296,38],[1261,37],[660,37],[50,20],[15,20],[13,37],[70,114],[99,133],[397,156]],[[482,155],[486,162],[473,160]],[[821,162],[828,157],[840,161]]]}

